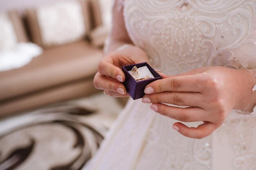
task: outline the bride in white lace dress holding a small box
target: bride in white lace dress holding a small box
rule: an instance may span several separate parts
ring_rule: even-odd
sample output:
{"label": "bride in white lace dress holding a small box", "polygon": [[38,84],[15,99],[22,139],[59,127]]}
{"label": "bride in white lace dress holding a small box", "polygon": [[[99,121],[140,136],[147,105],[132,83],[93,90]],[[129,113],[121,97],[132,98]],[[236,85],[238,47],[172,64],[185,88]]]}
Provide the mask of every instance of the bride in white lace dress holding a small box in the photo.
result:
{"label": "bride in white lace dress holding a small box", "polygon": [[128,96],[120,68],[145,61],[163,79],[85,170],[256,170],[256,0],[116,0],[112,13],[95,87]]}

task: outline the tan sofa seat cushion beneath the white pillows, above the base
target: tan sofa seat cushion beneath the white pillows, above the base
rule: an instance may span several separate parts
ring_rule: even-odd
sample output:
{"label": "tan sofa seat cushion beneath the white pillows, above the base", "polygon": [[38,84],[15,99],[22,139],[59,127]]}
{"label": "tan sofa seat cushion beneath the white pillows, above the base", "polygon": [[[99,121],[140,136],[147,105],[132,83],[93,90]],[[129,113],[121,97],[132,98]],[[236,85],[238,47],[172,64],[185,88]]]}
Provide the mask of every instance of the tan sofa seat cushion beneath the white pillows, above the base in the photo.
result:
{"label": "tan sofa seat cushion beneath the white pillows, above the base", "polygon": [[102,50],[79,41],[49,48],[23,68],[0,72],[0,101],[81,78],[92,78]]}

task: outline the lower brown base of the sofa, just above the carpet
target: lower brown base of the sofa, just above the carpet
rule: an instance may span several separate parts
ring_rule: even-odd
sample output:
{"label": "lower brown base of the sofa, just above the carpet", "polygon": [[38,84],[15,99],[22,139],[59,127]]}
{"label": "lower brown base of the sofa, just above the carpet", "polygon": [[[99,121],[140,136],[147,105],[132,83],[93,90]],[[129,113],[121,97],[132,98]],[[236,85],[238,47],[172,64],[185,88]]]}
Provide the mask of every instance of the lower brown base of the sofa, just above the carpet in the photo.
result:
{"label": "lower brown base of the sofa, just above the carpet", "polygon": [[93,80],[79,80],[61,84],[36,93],[27,94],[20,98],[14,98],[7,102],[0,102],[0,117],[62,102],[74,98],[84,97],[98,92],[93,85]]}

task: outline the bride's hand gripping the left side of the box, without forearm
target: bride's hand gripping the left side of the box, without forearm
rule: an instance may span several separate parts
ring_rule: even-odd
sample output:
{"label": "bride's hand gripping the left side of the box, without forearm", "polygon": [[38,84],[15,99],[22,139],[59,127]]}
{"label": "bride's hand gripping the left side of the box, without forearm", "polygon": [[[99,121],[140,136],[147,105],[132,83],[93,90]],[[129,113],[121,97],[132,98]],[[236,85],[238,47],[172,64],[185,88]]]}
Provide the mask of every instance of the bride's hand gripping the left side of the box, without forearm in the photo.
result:
{"label": "bride's hand gripping the left side of the box, without forearm", "polygon": [[124,72],[121,70],[123,65],[148,62],[146,53],[138,47],[127,45],[110,52],[103,57],[98,66],[98,72],[94,76],[94,86],[97,89],[105,90],[108,95],[113,97],[127,97],[124,84]]}

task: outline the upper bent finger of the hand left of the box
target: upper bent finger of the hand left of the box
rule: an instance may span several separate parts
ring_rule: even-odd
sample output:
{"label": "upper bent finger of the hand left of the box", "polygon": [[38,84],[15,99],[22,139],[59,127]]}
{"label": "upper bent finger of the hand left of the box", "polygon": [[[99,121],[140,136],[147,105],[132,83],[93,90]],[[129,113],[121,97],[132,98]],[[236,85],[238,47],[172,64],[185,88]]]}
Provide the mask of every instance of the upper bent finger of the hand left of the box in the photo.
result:
{"label": "upper bent finger of the hand left of the box", "polygon": [[117,81],[124,82],[125,80],[124,72],[108,61],[102,60],[98,65],[98,71],[100,74],[110,76]]}

